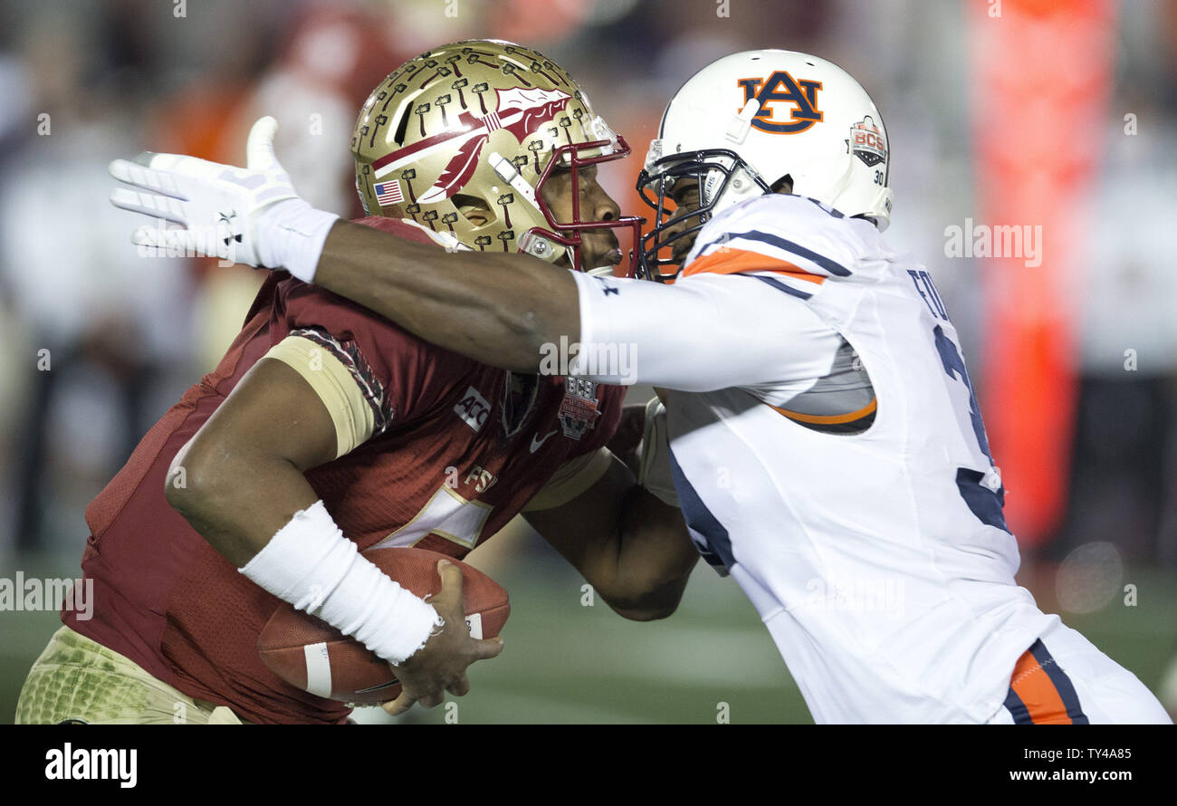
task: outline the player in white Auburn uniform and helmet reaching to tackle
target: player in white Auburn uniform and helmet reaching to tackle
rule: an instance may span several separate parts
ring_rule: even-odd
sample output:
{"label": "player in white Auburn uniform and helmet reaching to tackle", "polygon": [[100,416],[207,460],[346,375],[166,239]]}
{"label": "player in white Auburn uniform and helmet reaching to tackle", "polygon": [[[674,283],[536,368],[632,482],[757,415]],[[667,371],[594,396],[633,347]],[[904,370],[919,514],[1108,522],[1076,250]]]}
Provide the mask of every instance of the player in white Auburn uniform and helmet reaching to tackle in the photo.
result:
{"label": "player in white Auburn uniform and helmet reaching to tackle", "polygon": [[[639,180],[656,226],[638,278],[438,253],[332,224],[288,185],[246,198],[172,156],[144,160],[138,202],[114,199],[141,212],[177,206],[144,192],[182,195],[171,218],[189,228],[244,211],[247,262],[478,361],[553,371],[564,339],[580,346],[572,372],[653,384],[665,413],[647,418],[645,484],[677,495],[818,722],[1169,722],[1015,582],[956,328],[924,266],[880,237],[889,155],[878,109],[842,68],[750,51],[701,69],[663,115]],[[576,181],[592,168],[554,169]],[[500,175],[524,191],[510,165]]]}

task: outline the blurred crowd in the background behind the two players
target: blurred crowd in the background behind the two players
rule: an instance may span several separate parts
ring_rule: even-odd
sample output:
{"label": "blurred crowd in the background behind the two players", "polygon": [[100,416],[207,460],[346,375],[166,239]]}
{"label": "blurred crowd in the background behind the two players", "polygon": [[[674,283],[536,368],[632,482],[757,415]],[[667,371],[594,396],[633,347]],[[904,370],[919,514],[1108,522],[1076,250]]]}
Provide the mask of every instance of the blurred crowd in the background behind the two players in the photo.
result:
{"label": "blurred crowd in the background behind the two players", "polygon": [[[979,2],[979,0],[978,0]],[[1113,4],[1112,4],[1113,5]],[[752,47],[809,51],[885,113],[887,240],[936,277],[979,375],[978,260],[945,259],[977,209],[963,4],[918,0],[21,0],[0,7],[0,552],[80,552],[87,501],[235,335],[257,272],[137,257],[107,162],[141,149],[244,160],[261,114],[313,205],[359,214],[348,140],[368,91],[431,46],[510,39],[559,61],[638,152],[603,182],[623,207],[666,100]],[[1078,411],[1069,504],[1040,549],[1095,541],[1177,567],[1177,4],[1116,7],[1091,226],[1068,267]],[[1125,114],[1137,131],[1126,136]],[[999,125],[995,124],[995,125]],[[1065,138],[1070,121],[1056,121]],[[1136,362],[1126,368],[1125,351]],[[983,379],[979,386],[984,386]],[[986,401],[1016,406],[1016,401]],[[998,455],[998,460],[1000,457]],[[1016,493],[1015,493],[1016,494]]]}

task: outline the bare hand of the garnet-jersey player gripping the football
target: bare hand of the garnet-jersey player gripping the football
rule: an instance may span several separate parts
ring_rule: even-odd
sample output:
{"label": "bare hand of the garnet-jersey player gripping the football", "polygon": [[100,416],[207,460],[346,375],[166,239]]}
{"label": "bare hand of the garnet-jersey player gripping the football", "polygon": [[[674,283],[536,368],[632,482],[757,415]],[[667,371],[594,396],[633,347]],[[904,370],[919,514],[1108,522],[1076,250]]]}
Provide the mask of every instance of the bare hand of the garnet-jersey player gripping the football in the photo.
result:
{"label": "bare hand of the garnet-jersey player gripping the football", "polygon": [[470,637],[461,606],[461,568],[441,560],[438,574],[441,577],[441,589],[430,599],[430,604],[445,619],[445,627],[393,667],[401,685],[400,697],[384,704],[384,710],[393,717],[405,713],[414,702],[426,708],[435,707],[445,699],[445,692],[465,695],[470,691],[466,667],[503,652],[501,638],[477,640]]}

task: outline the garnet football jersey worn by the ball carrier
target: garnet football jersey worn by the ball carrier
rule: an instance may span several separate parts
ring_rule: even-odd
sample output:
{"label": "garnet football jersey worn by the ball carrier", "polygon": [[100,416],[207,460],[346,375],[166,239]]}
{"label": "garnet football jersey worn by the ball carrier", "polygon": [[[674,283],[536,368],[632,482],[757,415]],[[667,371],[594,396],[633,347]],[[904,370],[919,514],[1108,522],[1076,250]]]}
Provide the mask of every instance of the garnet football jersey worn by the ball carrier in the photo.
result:
{"label": "garnet football jersey worn by the ball carrier", "polygon": [[[413,240],[391,219],[370,226]],[[279,600],[222,558],[164,495],[177,452],[264,357],[308,380],[341,455],[306,473],[360,549],[418,546],[461,558],[570,460],[612,435],[624,389],[517,377],[435,347],[285,274],[267,279],[215,371],[147,433],[86,509],[89,620],[67,626],[180,691],[259,722],[338,722],[348,710],[280,680],[255,642]],[[548,505],[552,505],[551,502]]]}

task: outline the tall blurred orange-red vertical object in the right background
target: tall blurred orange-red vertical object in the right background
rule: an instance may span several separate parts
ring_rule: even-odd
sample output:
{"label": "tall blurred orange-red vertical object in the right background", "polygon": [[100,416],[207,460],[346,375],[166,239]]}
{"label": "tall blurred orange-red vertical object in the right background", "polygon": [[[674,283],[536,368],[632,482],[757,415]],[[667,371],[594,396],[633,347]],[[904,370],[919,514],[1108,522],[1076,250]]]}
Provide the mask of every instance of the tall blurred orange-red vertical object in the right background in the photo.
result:
{"label": "tall blurred orange-red vertical object in the right background", "polygon": [[980,220],[1040,233],[1037,255],[990,258],[982,274],[980,405],[1009,491],[1006,520],[1033,547],[1066,505],[1077,394],[1066,284],[1084,244],[1079,204],[1095,192],[1103,152],[1116,14],[1110,0],[969,7]]}

